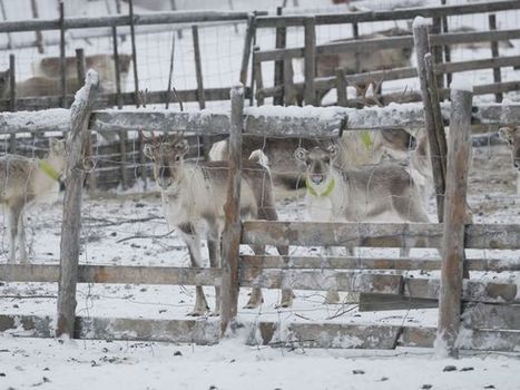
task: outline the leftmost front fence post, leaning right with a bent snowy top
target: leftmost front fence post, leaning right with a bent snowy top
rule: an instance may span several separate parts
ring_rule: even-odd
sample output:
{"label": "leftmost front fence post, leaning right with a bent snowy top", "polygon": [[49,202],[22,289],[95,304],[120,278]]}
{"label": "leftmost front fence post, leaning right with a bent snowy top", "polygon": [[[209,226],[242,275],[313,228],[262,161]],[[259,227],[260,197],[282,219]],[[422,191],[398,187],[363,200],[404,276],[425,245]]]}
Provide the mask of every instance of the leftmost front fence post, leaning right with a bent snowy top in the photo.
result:
{"label": "leftmost front fence post, leaning right with a bent snowy top", "polygon": [[84,156],[88,121],[99,88],[98,74],[89,70],[85,86],[70,108],[70,134],[67,140],[65,201],[60,242],[58,321],[56,335],[73,337],[76,284],[78,280],[79,238],[81,228],[81,189],[85,179]]}

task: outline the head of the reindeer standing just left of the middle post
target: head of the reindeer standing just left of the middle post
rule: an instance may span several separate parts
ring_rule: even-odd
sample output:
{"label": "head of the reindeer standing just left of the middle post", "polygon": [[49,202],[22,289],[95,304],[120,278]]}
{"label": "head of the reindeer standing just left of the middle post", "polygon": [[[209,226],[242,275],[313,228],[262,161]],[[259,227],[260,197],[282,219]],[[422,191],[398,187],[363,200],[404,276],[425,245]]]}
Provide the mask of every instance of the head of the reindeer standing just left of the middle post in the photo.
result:
{"label": "head of the reindeer standing just left of the middle post", "polygon": [[163,191],[177,185],[183,179],[184,155],[189,150],[188,142],[179,135],[173,139],[143,137],[143,153],[154,162],[154,177]]}

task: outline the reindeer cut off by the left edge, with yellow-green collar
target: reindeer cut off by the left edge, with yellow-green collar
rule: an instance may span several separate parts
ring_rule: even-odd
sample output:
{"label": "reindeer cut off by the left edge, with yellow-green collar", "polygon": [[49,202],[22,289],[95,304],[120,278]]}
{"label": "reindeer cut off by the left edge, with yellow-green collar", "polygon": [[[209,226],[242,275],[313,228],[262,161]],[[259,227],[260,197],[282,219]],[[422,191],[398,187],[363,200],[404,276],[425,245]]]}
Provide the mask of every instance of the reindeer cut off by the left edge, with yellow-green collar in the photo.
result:
{"label": "reindeer cut off by the left edge, with yellow-green collar", "polygon": [[20,261],[27,262],[24,208],[36,202],[49,199],[59,192],[59,182],[65,168],[65,142],[52,140],[45,159],[17,155],[0,157],[0,203],[8,208],[10,255],[17,261],[17,241]]}

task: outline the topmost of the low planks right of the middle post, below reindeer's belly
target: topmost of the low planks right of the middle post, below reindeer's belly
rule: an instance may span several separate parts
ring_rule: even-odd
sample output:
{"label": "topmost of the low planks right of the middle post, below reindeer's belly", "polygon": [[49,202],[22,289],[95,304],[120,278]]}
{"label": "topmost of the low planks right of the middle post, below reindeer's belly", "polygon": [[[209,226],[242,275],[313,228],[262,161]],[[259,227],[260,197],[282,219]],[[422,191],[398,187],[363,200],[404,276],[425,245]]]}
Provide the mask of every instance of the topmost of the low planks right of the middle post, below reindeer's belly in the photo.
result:
{"label": "topmost of the low planks right of the middle post, below reindeer's belly", "polygon": [[[244,221],[243,244],[302,246],[440,247],[442,224]],[[467,248],[520,248],[518,224],[465,226]]]}

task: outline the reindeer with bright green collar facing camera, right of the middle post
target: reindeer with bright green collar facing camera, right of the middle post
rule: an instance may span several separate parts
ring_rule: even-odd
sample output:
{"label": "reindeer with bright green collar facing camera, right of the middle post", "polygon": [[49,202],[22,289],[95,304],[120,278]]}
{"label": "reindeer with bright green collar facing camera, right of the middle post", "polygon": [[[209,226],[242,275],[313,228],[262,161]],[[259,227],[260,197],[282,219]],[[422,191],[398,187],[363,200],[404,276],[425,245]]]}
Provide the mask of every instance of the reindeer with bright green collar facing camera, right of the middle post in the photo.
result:
{"label": "reindeer with bright green collar facing camera, right of the middle post", "polygon": [[[399,164],[341,170],[334,165],[336,145],[297,148],[294,156],[306,166],[306,208],[313,221],[429,222],[412,177]],[[327,293],[327,302],[337,300],[337,293]]]}

